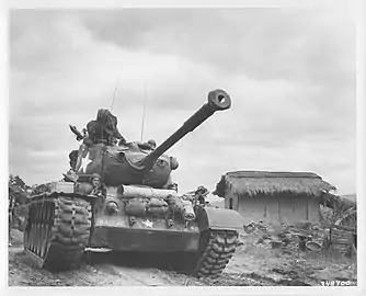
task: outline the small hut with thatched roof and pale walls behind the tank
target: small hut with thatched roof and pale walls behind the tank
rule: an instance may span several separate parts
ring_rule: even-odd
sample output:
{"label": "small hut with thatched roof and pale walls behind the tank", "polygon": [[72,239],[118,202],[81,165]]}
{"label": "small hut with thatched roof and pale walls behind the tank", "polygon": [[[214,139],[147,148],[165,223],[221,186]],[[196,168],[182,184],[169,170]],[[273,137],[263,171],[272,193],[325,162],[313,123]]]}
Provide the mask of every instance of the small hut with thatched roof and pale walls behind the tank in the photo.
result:
{"label": "small hut with thatched roof and pale walls behind the tank", "polygon": [[335,187],[310,172],[237,171],[222,175],[214,194],[244,223],[296,225],[319,221],[321,196],[331,190]]}

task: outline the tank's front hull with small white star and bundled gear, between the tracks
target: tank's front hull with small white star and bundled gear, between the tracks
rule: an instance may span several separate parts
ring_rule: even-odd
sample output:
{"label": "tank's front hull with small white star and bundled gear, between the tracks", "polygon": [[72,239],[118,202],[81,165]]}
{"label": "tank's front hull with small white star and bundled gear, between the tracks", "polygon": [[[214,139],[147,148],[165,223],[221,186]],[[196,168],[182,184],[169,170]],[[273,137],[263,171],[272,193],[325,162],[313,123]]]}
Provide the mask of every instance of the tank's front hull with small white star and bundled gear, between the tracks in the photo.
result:
{"label": "tank's front hull with small white star and bundled gear, between the tracks", "polygon": [[[152,202],[161,203],[155,208],[163,207],[163,197],[176,194],[174,191],[148,186],[123,189],[122,193],[115,187],[107,187],[107,197],[95,200],[90,248],[142,252],[198,251],[199,228],[196,220],[186,221],[182,215],[168,212],[147,213]],[[155,197],[148,197],[148,192]],[[164,195],[164,192],[170,194]],[[108,213],[108,203],[114,203],[118,212]]]}

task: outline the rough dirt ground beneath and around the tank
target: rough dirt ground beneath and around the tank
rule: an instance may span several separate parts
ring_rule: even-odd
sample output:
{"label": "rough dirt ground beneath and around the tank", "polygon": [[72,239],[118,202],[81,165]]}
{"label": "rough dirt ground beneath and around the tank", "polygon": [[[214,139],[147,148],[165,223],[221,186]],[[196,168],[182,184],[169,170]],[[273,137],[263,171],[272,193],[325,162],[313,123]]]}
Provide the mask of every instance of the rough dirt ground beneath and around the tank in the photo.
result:
{"label": "rough dirt ground beneath and around the tank", "polygon": [[[79,270],[50,273],[23,251],[23,236],[12,231],[9,286],[320,286],[338,281],[356,285],[356,259],[336,253],[273,249],[254,235],[240,235],[240,246],[216,280],[198,280],[167,266],[169,258],[151,254],[93,253]],[[333,282],[333,283],[334,283]]]}

